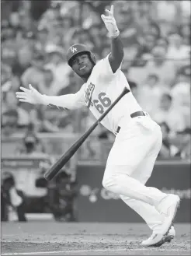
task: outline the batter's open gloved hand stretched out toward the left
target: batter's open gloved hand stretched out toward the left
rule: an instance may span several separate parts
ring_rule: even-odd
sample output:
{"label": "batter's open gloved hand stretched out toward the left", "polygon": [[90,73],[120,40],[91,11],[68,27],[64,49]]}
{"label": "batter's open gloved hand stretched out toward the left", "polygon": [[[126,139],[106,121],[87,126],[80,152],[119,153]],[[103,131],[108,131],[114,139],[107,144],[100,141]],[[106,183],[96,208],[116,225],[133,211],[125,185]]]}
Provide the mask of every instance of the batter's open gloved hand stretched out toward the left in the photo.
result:
{"label": "batter's open gloved hand stretched out toward the left", "polygon": [[20,87],[23,92],[17,92],[16,97],[21,102],[28,102],[31,104],[43,104],[43,95],[40,94],[33,86],[29,86],[30,89]]}

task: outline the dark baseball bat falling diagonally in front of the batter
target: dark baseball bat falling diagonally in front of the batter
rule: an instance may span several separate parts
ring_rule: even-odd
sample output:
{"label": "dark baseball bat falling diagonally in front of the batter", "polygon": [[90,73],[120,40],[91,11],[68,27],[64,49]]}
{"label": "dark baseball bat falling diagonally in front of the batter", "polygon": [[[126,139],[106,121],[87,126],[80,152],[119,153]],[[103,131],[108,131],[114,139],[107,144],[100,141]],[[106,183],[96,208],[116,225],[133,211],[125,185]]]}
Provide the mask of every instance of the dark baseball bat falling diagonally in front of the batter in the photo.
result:
{"label": "dark baseball bat falling diagonally in front of the batter", "polygon": [[125,87],[123,89],[123,92],[120,93],[120,96],[118,96],[116,98],[115,101],[113,101],[113,103],[110,105],[110,107],[108,107],[108,109],[106,110],[106,112],[104,112],[101,117],[99,117],[99,119],[92,124],[92,126],[82,135],[82,137],[80,137],[72,146],[70,149],[68,149],[68,151],[66,153],[64,153],[59,160],[57,160],[56,163],[54,163],[54,165],[52,167],[50,167],[50,170],[47,170],[47,172],[44,174],[44,178],[47,181],[51,181],[52,178],[57,175],[57,173],[59,172],[59,170],[61,170],[62,167],[64,167],[64,165],[68,162],[68,160],[71,159],[71,156],[73,156],[75,154],[75,152],[79,149],[80,146],[82,146],[83,142],[85,142],[85,139],[87,139],[89,137],[89,135],[93,132],[93,130],[97,127],[97,125],[99,124],[100,121],[102,121],[102,119],[104,117],[106,117],[106,114],[109,113],[110,110],[113,109],[113,107],[116,105],[116,103],[127,93],[129,93],[130,90],[127,89],[127,87]]}

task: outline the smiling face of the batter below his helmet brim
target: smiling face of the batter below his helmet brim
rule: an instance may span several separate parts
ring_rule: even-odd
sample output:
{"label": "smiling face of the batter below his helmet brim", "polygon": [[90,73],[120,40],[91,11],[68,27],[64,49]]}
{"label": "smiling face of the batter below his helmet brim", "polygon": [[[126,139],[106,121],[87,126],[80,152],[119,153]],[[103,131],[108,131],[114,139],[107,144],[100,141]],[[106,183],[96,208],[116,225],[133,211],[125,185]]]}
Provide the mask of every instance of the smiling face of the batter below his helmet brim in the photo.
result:
{"label": "smiling face of the batter below his helmet brim", "polygon": [[71,67],[82,79],[88,79],[94,65],[88,54],[79,54],[72,61]]}

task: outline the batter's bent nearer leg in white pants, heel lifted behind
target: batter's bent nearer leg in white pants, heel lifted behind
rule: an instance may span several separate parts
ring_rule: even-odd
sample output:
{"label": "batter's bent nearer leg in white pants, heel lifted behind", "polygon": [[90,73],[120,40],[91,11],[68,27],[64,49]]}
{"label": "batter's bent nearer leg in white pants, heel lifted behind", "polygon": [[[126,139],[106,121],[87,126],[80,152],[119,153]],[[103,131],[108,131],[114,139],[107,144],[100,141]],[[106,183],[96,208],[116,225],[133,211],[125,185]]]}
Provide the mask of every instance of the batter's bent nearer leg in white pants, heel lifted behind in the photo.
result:
{"label": "batter's bent nearer leg in white pants, heel lifted behind", "polygon": [[161,229],[161,234],[165,234],[171,226],[179,198],[167,196],[157,188],[148,188],[132,177],[153,146],[158,143],[158,138],[161,139],[158,125],[151,129],[136,125],[129,130],[123,129],[109,153],[102,184],[109,191],[153,205],[161,212],[167,212],[170,207],[170,214]]}

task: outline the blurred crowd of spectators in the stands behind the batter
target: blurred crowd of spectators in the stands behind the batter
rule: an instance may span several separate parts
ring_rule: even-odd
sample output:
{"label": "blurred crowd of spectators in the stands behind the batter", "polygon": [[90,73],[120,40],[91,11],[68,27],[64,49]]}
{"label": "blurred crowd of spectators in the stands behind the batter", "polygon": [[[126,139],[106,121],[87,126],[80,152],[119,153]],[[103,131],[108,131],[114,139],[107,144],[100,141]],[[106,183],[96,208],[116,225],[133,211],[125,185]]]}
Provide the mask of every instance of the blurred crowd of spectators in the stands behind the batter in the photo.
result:
{"label": "blurred crowd of spectators in the stands behind the batter", "polygon": [[[141,107],[161,124],[161,157],[190,158],[189,1],[2,1],[2,135],[83,132],[94,117],[33,107],[16,100],[19,86],[40,93],[75,93],[82,80],[67,64],[71,44],[82,43],[99,60],[109,54],[100,15],[113,2],[124,45],[122,69]],[[94,135],[113,141],[102,127]]]}

